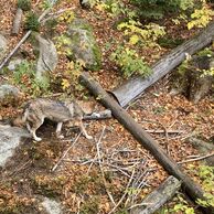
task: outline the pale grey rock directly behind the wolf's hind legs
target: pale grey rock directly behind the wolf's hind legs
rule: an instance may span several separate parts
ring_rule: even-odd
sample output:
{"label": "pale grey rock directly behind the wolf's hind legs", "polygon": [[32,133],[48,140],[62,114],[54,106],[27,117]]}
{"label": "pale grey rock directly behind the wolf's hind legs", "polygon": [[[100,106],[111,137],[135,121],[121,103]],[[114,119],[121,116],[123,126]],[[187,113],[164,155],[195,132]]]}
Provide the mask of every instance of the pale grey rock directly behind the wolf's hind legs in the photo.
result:
{"label": "pale grey rock directly behind the wolf's hind legs", "polygon": [[9,125],[0,125],[0,165],[13,156],[15,148],[19,146],[22,137],[31,137],[30,133],[22,128],[11,127]]}

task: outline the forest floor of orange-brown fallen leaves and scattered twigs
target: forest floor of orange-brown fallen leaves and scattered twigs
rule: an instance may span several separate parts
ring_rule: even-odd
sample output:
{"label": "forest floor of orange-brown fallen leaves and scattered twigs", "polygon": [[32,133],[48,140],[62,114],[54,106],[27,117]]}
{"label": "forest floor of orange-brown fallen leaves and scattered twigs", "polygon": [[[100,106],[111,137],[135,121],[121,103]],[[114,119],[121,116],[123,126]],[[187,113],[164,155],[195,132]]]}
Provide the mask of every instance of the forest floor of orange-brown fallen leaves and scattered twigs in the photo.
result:
{"label": "forest floor of orange-brown fallen leaves and scattered twigs", "polygon": [[[24,33],[21,31],[18,36],[10,35],[15,2],[0,1],[2,11],[0,31],[10,41],[8,52]],[[111,40],[118,43],[124,40],[122,33],[114,28],[115,18],[97,9],[83,10],[77,0],[72,3],[61,1],[54,10],[69,7],[74,7],[76,14],[92,24],[94,35],[103,51],[103,68],[90,73],[92,76],[108,90],[120,85],[125,79],[108,60],[115,49],[114,44],[108,46]],[[168,34],[172,38],[186,40],[196,33],[183,25],[174,25],[167,19],[162,22],[162,25],[168,26]],[[64,28],[63,24],[57,25],[56,31],[62,32]],[[31,53],[28,42],[21,49]],[[148,47],[141,50],[140,54],[151,65],[169,51],[167,47],[161,50]],[[60,57],[57,74],[65,69],[65,61],[63,56]],[[0,81],[3,82],[7,76],[1,78],[0,76]],[[180,162],[200,156],[186,142],[186,138],[196,136],[205,141],[211,141],[213,138],[214,104],[212,95],[207,95],[197,104],[189,101],[182,95],[171,96],[169,93],[171,81],[171,74],[160,79],[131,103],[127,111],[174,161]],[[57,93],[57,89],[53,92]],[[76,95],[78,97],[77,93]],[[30,98],[31,96],[25,95],[17,105],[2,106],[0,116],[4,119],[14,117],[20,114],[22,103]],[[89,101],[96,106],[96,109],[103,109],[92,97]],[[108,213],[114,207],[108,193],[117,203],[127,191],[126,199],[118,207],[118,213],[119,211],[122,213],[125,205],[130,207],[139,203],[169,176],[150,152],[143,149],[116,119],[93,120],[85,124],[87,131],[94,137],[93,140],[87,140],[83,136],[78,138],[78,130],[68,128],[63,130],[65,139],[56,139],[53,135],[54,125],[51,122],[39,129],[38,135],[43,138],[41,142],[32,139],[23,140],[13,158],[0,171],[0,213],[43,213],[38,204],[38,195],[57,199],[64,205],[65,213]],[[97,142],[99,142],[98,150]],[[58,162],[66,151],[64,159]],[[200,164],[200,161],[195,161],[181,165],[193,180],[201,182],[197,176]],[[126,190],[130,179],[133,179],[132,184]]]}

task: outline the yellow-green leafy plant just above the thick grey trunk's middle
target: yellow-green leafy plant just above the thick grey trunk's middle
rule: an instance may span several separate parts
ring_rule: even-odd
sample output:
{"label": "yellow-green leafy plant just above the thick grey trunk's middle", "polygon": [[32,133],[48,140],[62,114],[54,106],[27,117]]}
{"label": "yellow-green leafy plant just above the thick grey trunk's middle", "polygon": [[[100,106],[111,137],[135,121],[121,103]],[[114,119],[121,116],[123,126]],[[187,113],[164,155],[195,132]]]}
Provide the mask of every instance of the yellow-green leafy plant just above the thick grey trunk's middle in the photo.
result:
{"label": "yellow-green leafy plant just above the thick grey trunk's middle", "polygon": [[117,50],[111,53],[110,60],[121,68],[125,77],[130,77],[133,74],[140,74],[148,76],[151,74],[149,65],[140,58],[135,50],[129,47],[118,46]]}

